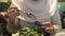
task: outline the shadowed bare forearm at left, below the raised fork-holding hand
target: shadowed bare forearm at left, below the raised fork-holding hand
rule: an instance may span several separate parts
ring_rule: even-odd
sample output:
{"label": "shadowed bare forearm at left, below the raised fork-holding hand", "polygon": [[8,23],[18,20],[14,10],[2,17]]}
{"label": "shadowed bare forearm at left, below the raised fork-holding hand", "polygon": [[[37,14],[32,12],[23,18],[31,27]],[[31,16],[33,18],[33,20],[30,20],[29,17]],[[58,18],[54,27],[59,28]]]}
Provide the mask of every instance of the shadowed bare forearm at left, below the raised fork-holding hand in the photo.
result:
{"label": "shadowed bare forearm at left, below the raised fork-holding hand", "polygon": [[15,25],[15,19],[10,19],[9,18],[8,22],[9,23],[8,23],[6,29],[8,29],[9,33],[16,33],[17,32],[17,28]]}

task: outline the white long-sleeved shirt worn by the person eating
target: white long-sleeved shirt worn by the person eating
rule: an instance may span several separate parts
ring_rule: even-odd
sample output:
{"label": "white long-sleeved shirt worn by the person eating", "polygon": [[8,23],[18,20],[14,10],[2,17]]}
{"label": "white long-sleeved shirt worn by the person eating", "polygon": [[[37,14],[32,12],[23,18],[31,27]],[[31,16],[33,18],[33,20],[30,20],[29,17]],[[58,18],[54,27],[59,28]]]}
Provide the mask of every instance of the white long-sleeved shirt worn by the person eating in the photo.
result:
{"label": "white long-sleeved shirt worn by the person eating", "polygon": [[52,22],[55,29],[61,29],[57,0],[13,0],[22,11],[30,12],[40,22]]}

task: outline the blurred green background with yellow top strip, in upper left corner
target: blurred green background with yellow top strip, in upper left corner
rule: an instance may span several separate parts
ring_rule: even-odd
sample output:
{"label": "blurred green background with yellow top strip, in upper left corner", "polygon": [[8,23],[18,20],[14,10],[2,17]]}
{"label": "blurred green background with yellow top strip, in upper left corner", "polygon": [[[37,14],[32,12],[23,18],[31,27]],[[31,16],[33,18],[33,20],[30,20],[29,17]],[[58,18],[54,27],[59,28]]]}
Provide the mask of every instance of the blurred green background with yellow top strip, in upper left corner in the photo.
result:
{"label": "blurred green background with yellow top strip, in upper left corner", "polygon": [[0,0],[0,12],[3,12],[9,8],[11,0]]}

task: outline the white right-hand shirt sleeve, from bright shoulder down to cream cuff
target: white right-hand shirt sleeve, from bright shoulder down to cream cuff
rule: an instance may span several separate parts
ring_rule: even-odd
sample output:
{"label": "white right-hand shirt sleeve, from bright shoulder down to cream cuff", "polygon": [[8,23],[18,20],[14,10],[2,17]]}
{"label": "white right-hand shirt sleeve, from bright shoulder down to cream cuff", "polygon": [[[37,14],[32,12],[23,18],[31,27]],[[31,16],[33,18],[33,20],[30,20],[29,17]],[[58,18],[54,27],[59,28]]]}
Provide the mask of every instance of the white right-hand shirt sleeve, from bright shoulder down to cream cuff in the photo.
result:
{"label": "white right-hand shirt sleeve, from bright shoulder down to cream cuff", "polygon": [[57,2],[53,2],[55,3],[54,7],[52,7],[53,10],[51,11],[53,14],[51,15],[51,22],[54,26],[55,30],[61,30],[62,29],[62,23],[61,23],[61,17],[60,17],[60,13],[58,13],[58,6],[57,6]]}

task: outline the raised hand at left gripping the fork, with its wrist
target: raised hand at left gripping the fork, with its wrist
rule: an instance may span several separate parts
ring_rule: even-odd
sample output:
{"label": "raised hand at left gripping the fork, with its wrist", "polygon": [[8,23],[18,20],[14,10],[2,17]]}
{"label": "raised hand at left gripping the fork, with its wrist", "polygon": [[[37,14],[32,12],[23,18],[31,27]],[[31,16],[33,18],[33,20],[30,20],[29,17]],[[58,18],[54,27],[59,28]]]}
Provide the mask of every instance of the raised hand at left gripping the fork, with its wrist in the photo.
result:
{"label": "raised hand at left gripping the fork, with its wrist", "polygon": [[9,20],[10,22],[14,22],[15,21],[15,17],[20,15],[20,12],[17,8],[12,7],[10,10],[8,10],[9,13]]}

